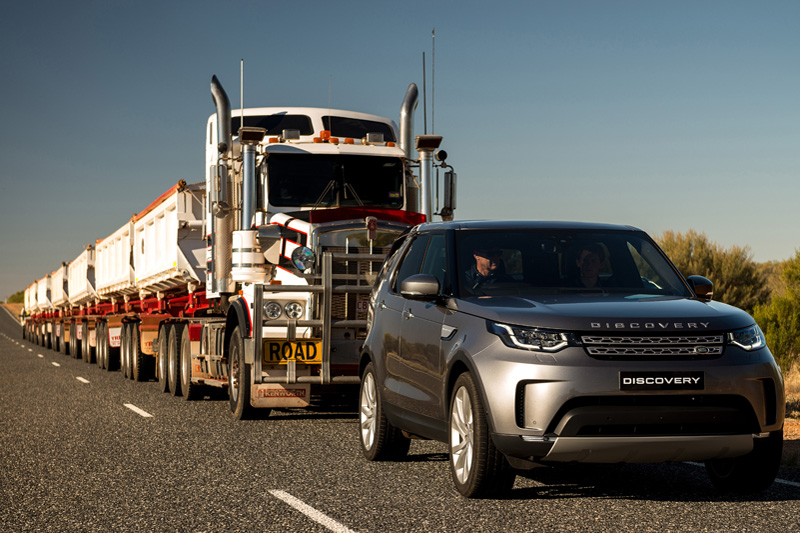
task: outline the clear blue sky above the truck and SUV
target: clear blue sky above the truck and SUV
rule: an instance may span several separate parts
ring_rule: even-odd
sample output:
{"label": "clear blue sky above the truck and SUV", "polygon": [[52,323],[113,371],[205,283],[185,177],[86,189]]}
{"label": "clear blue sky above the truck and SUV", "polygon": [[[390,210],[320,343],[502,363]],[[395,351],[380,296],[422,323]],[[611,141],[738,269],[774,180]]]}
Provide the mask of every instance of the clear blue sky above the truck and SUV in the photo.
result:
{"label": "clear blue sky above the truck and SUV", "polygon": [[202,181],[213,74],[234,107],[243,58],[247,106],[327,107],[332,85],[397,120],[433,27],[457,218],[800,247],[800,2],[9,2],[0,298]]}

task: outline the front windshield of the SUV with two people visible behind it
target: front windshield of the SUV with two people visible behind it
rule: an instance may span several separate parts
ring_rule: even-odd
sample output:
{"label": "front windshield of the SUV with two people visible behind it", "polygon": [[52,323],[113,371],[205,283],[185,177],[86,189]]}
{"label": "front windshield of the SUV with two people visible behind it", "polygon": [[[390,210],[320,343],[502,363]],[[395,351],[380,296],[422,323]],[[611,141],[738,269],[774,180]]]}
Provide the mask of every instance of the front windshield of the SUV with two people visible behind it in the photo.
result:
{"label": "front windshield of the SUV with two people visible behind it", "polygon": [[643,233],[598,230],[457,232],[462,297],[615,292],[690,296]]}

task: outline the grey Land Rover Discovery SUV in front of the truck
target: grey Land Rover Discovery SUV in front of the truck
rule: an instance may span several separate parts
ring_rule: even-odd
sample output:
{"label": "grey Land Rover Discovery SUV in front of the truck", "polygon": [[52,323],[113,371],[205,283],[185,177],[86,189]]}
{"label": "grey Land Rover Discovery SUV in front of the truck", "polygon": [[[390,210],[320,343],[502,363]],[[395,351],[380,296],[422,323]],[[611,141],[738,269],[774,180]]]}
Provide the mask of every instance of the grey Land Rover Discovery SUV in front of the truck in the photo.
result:
{"label": "grey Land Rover Discovery SUV in front of the truck", "polygon": [[467,497],[548,462],[704,461],[720,490],[763,490],[783,378],[753,318],[711,290],[628,226],[417,226],[370,297],[363,453],[445,442]]}

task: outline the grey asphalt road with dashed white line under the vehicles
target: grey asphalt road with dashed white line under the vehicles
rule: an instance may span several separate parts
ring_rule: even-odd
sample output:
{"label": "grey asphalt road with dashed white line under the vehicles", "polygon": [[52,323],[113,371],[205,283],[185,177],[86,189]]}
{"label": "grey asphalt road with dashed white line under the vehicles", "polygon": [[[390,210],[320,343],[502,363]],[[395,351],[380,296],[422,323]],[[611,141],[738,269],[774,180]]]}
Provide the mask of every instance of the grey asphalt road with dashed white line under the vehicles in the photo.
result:
{"label": "grey asphalt road with dashed white line under the vehicles", "polygon": [[693,464],[543,467],[466,500],[442,444],[367,463],[354,412],[237,422],[224,395],[186,402],[23,341],[4,311],[0,408],[0,531],[800,530],[795,470],[739,498]]}

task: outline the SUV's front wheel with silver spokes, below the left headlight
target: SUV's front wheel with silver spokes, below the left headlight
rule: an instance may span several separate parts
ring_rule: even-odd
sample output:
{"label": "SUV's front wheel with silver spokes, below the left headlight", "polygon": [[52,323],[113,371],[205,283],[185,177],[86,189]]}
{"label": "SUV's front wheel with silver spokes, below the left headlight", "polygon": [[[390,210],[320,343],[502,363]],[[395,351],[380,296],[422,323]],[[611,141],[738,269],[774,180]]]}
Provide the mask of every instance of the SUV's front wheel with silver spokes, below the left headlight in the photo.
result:
{"label": "SUV's front wheel with silver spokes, below the left headlight", "polygon": [[450,473],[467,498],[507,492],[516,474],[489,435],[486,410],[469,372],[458,376],[450,398]]}

